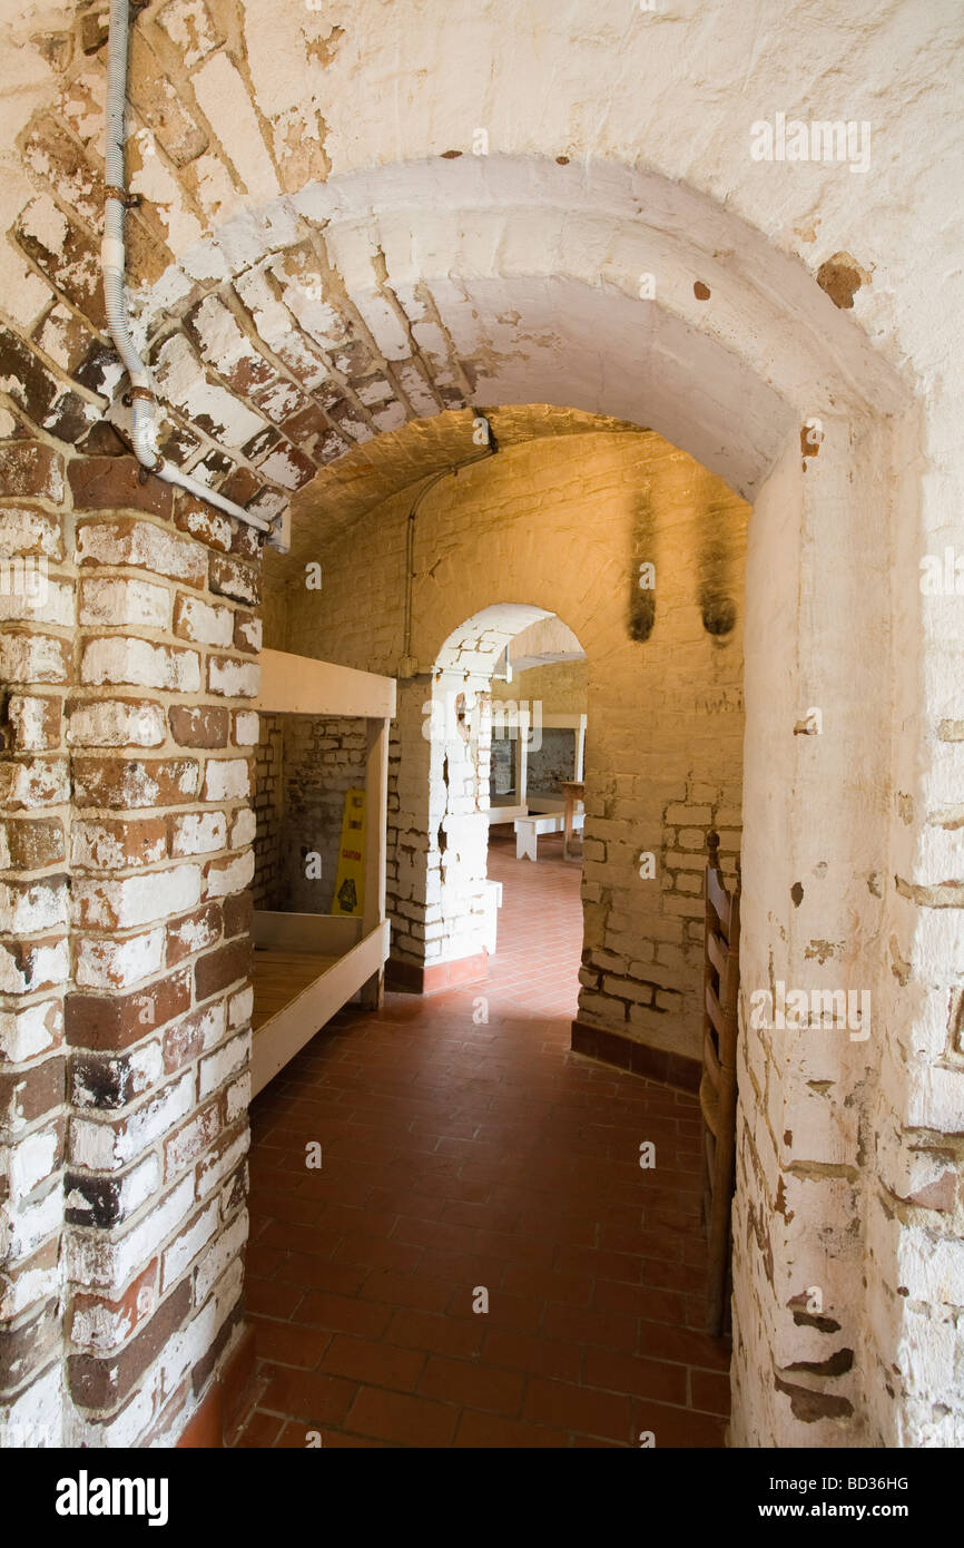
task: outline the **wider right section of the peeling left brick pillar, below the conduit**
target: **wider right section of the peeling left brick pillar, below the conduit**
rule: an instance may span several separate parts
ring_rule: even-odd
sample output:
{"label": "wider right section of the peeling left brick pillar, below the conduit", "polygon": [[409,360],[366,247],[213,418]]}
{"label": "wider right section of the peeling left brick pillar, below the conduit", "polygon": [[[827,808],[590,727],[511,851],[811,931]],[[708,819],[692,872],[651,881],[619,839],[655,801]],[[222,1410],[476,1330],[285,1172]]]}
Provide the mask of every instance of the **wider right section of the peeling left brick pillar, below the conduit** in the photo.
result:
{"label": "wider right section of the peeling left brick pillar, below the conduit", "polygon": [[67,994],[70,1440],[176,1440],[240,1336],[254,531],[77,458]]}

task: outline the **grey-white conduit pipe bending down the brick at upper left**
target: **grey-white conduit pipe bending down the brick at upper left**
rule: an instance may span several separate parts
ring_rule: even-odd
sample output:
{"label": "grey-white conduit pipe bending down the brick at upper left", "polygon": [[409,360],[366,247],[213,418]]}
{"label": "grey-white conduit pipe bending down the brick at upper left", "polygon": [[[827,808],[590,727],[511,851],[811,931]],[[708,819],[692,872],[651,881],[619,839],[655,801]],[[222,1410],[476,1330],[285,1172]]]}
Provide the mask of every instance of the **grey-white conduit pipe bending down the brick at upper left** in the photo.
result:
{"label": "grey-white conduit pipe bending down the brick at upper left", "polygon": [[110,0],[110,37],[107,43],[107,130],[104,141],[104,241],[101,243],[101,268],[104,274],[104,307],[107,325],[118,354],[130,376],[133,404],[133,446],[142,467],[149,467],[166,483],[178,485],[200,500],[226,511],[258,533],[269,533],[271,522],[244,511],[234,500],[226,500],[209,489],[200,478],[181,472],[173,463],[164,461],[155,446],[155,395],[150,372],[138,354],[127,325],[127,302],[124,296],[124,209],[127,186],[124,181],[124,105],[127,99],[127,29],[130,0]]}

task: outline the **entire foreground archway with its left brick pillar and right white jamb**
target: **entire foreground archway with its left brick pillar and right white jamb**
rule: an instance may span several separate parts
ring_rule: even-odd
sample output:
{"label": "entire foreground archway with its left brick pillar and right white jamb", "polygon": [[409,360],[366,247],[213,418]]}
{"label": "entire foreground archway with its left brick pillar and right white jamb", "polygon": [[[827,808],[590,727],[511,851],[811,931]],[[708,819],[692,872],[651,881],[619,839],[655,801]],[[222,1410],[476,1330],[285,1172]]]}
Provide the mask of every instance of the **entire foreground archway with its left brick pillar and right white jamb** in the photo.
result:
{"label": "entire foreground archway with its left brick pillar and right white jamb", "polygon": [[[74,115],[80,138],[82,122]],[[105,1113],[115,1101],[124,1107],[144,1098],[138,1118],[150,1105],[159,1124],[183,1121],[204,1147],[192,1167],[206,1166],[215,1146],[234,1144],[234,1125],[243,1128],[243,906],[221,904],[221,896],[235,896],[249,844],[244,658],[257,650],[257,622],[248,615],[258,579],[243,534],[138,485],[116,455],[122,446],[99,426],[105,407],[121,432],[125,418],[104,345],[88,198],[93,159],[96,153],[79,190],[68,183],[65,194],[57,159],[39,158],[46,186],[17,214],[14,245],[45,300],[26,324],[5,328],[11,441],[3,498],[9,511],[25,512],[12,528],[19,551],[50,559],[56,598],[48,621],[28,618],[25,628],[15,619],[5,635],[20,704],[19,720],[12,717],[19,740],[3,774],[12,820],[29,819],[32,841],[42,824],[54,824],[48,848],[29,848],[26,864],[11,865],[25,879],[14,878],[8,898],[9,933],[28,940],[6,981],[15,1017],[12,1133],[32,1138],[46,1124],[53,1146],[50,1167],[23,1176],[17,1240],[40,1277],[23,1279],[26,1299],[12,1302],[14,1331],[31,1330],[26,1375],[12,1396],[23,1398],[26,1415],[51,1415],[57,1433],[67,1415],[68,1430],[80,1426],[71,1433],[125,1444],[172,1433],[192,1410],[226,1348],[226,1317],[237,1305],[238,1200],[218,1194],[226,1214],[215,1218],[197,1192],[200,1176],[192,1170],[187,1187],[187,1167],[176,1159],[170,1178],[158,1173],[147,1194],[138,1192],[152,1161],[164,1164],[159,1142],[144,1155],[125,1141],[108,1142],[122,1124],[111,1128]],[[297,190],[279,198],[271,187],[262,197],[260,170],[255,158],[243,211],[207,229],[195,217],[193,228],[170,237],[161,265],[147,257],[150,209],[138,228],[138,313],[172,404],[169,455],[203,466],[252,508],[274,512],[297,491],[309,512],[309,486],[353,441],[480,396],[549,401],[651,424],[752,498],[744,981],[763,986],[783,975],[808,985],[814,964],[823,966],[814,943],[829,943],[834,983],[871,989],[880,1040],[873,1060],[854,1043],[802,1050],[786,1034],[744,1042],[735,1433],[741,1441],[825,1444],[843,1427],[851,1443],[941,1441],[959,1426],[959,1401],[949,1390],[950,1420],[933,1420],[914,1372],[902,1373],[894,1396],[890,1370],[914,1330],[930,1327],[932,1305],[947,1314],[939,1311],[947,1291],[932,1283],[924,1262],[928,1232],[956,1252],[945,1212],[928,1192],[939,1181],[932,1176],[936,1163],[916,1159],[916,1139],[956,1122],[959,1039],[947,1014],[956,966],[933,923],[947,898],[932,876],[932,839],[935,827],[949,830],[927,820],[950,796],[939,777],[928,785],[919,774],[919,754],[933,751],[938,735],[921,723],[918,703],[925,678],[919,596],[911,587],[890,605],[891,551],[916,576],[922,526],[916,458],[924,441],[910,393],[797,260],[670,176],[602,161],[557,166],[546,153],[415,156],[325,184],[302,175]],[[444,214],[430,218],[439,206]],[[508,212],[526,232],[521,249],[494,240],[504,235]],[[650,276],[653,296],[641,283]],[[9,311],[17,311],[12,300]],[[802,444],[812,421],[819,438]],[[153,590],[135,590],[138,579]],[[97,646],[104,628],[111,630],[108,650]],[[110,711],[102,707],[108,700]],[[825,709],[822,737],[795,734],[811,706]],[[938,752],[959,740],[950,712],[941,724],[950,729],[939,734]],[[910,746],[908,726],[921,746]],[[905,734],[899,745],[897,731]],[[113,783],[105,783],[108,762],[124,765]],[[156,799],[138,805],[135,785]],[[231,834],[212,825],[224,805]],[[156,816],[167,807],[164,853],[142,851],[138,841],[135,856],[139,865],[145,853],[158,854],[147,859],[147,873],[162,873],[164,887],[156,879],[144,887],[125,845],[135,824],[150,819],[130,813]],[[122,816],[101,824],[91,864],[85,825],[115,810]],[[183,817],[197,819],[186,824],[190,841],[183,839]],[[153,837],[159,842],[159,830]],[[207,848],[215,837],[226,842]],[[214,858],[186,859],[184,842]],[[20,887],[28,895],[40,889],[39,913],[32,899],[22,904]],[[161,912],[145,916],[152,887]],[[800,901],[794,889],[802,889]],[[158,986],[170,985],[179,950],[170,933],[176,938],[189,916],[215,906],[217,938],[203,933],[201,918],[192,918],[201,933],[184,937],[190,1003],[161,1006]],[[224,909],[234,918],[229,933]],[[101,1060],[116,1091],[94,1104],[91,1118],[84,1111],[90,1087],[77,1085],[74,1067],[97,1050],[87,1031],[73,1039],[68,1093],[57,985],[70,950],[77,1015],[94,991],[79,972],[85,950],[111,955],[111,935],[121,932],[130,944],[142,926],[153,932],[156,966],[132,981],[130,958],[116,969],[99,958],[97,972],[108,978],[104,998],[118,1025],[149,1025],[145,1039],[155,1031],[164,1039],[155,1051],[161,1065],[136,1067],[124,1033]],[[132,1000],[142,994],[150,998],[144,1023]],[[218,1025],[207,1023],[212,1005],[223,1025],[220,1011]],[[170,1014],[158,1020],[162,1009]],[[164,1065],[169,1034],[179,1048],[172,1070]],[[23,1081],[40,1107],[22,1104]],[[829,1099],[814,1085],[831,1088]],[[217,1102],[207,1101],[212,1093]],[[223,1110],[212,1138],[206,1122],[217,1104]],[[85,1124],[96,1130],[93,1149],[77,1138]],[[63,1203],[63,1130],[68,1167],[93,1176],[97,1198],[110,1200],[105,1215],[94,1211],[91,1220],[88,1211],[77,1221],[76,1203]],[[104,1166],[94,1164],[101,1158]],[[135,1161],[149,1163],[136,1186]],[[218,1152],[221,1161],[224,1187],[235,1186],[237,1153]],[[70,1184],[67,1197],[73,1200]],[[893,1198],[924,1214],[899,1224]],[[859,1238],[854,1220],[863,1223]],[[220,1303],[197,1265],[178,1272],[209,1226],[204,1240],[217,1237],[223,1272],[232,1276]],[[65,1257],[57,1259],[54,1243],[48,1262],[43,1254],[60,1228]],[[155,1248],[169,1257],[166,1266],[155,1263],[155,1300],[147,1297],[138,1331],[122,1297],[153,1263]],[[97,1328],[107,1331],[91,1334],[84,1353],[50,1339],[60,1262],[68,1299],[93,1296],[101,1305]],[[802,1310],[800,1296],[812,1285],[822,1286],[832,1317],[814,1320]],[[907,1305],[899,1286],[911,1289]],[[839,1327],[828,1331],[826,1322]],[[181,1364],[161,1372],[155,1337],[164,1348],[176,1345]],[[118,1385],[108,1375],[121,1348],[127,1364]],[[826,1362],[840,1350],[851,1351],[853,1365],[837,1378]],[[99,1362],[96,1372],[90,1359]],[[825,1373],[805,1387],[794,1375],[800,1365]],[[136,1393],[138,1407],[130,1392],[145,1368],[156,1385]],[[85,1410],[80,1420],[74,1406]]]}

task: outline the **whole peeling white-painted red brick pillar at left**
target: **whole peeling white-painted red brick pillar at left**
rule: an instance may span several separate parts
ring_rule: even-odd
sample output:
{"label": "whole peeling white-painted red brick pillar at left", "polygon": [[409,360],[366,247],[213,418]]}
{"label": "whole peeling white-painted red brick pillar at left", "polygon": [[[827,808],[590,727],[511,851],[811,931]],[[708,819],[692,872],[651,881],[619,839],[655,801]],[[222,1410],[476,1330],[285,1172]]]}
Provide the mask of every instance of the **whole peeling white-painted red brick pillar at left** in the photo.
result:
{"label": "whole peeling white-painted red brick pillar at left", "polygon": [[[127,455],[17,432],[0,1421],[145,1444],[176,1438],[240,1322],[258,539]],[[40,605],[14,557],[46,560]]]}

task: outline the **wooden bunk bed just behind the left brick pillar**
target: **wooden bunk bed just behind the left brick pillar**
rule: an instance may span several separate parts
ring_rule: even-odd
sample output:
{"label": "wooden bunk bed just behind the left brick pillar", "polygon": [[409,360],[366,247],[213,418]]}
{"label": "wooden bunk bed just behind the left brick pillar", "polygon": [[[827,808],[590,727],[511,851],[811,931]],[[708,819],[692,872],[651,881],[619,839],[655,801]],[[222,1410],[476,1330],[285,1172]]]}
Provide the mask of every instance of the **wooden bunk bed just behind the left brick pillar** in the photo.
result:
{"label": "wooden bunk bed just behind the left brick pillar", "polygon": [[282,650],[262,653],[254,704],[269,715],[337,715],[367,721],[365,884],[362,915],[254,913],[254,1046],[257,1096],[353,995],[378,1006],[388,957],[385,918],[385,819],[388,723],[395,680]]}

